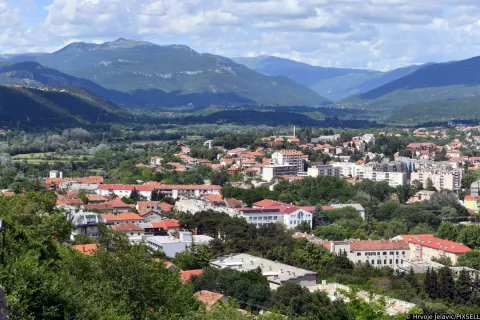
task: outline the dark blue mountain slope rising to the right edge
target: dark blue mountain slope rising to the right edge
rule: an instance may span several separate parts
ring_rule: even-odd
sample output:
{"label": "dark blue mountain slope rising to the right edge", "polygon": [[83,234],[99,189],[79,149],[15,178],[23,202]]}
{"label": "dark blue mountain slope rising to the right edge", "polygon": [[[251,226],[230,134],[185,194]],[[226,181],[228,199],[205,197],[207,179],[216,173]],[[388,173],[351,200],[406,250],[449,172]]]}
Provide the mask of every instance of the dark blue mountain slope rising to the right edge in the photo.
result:
{"label": "dark blue mountain slope rising to the right edge", "polygon": [[480,57],[424,66],[366,93],[341,101],[348,107],[395,111],[420,102],[480,96]]}

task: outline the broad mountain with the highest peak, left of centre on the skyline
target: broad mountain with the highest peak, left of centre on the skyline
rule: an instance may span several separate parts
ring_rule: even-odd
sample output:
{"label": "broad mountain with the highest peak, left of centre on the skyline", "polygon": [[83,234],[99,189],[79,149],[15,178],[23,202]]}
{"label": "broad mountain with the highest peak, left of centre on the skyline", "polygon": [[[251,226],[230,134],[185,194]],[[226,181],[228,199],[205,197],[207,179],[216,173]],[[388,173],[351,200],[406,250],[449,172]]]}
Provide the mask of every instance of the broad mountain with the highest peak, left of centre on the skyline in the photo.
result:
{"label": "broad mountain with the highest peak, left of centre on the skyline", "polygon": [[37,61],[137,98],[143,95],[148,99],[140,98],[152,106],[327,102],[287,77],[268,77],[228,58],[200,54],[183,45],[125,39],[104,44],[79,42],[52,54],[26,54],[15,59]]}

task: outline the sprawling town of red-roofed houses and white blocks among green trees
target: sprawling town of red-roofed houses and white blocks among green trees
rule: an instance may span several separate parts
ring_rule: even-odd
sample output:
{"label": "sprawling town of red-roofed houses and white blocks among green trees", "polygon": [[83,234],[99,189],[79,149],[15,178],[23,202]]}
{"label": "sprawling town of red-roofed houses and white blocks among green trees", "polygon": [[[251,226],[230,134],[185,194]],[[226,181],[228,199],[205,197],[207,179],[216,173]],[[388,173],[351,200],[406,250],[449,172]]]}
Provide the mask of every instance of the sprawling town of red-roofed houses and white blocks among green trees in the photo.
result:
{"label": "sprawling town of red-roofed houses and white blocks among green trees", "polygon": [[[134,173],[128,179],[114,178],[116,166],[85,175],[80,162],[77,170],[68,162],[33,165],[48,172],[34,185],[55,194],[55,210],[72,225],[72,249],[91,257],[104,234],[122,235],[157,252],[208,309],[233,299],[249,312],[273,310],[271,298],[202,280],[226,269],[258,269],[273,296],[295,283],[332,302],[381,302],[389,316],[457,310],[433,301],[478,305],[480,126],[292,132],[252,136],[232,149],[217,138],[148,149],[119,164]],[[13,182],[0,195],[6,203],[27,197],[30,184]],[[313,260],[281,251],[289,246]],[[322,262],[327,256],[331,265]],[[346,275],[372,268],[366,279]],[[392,283],[380,284],[382,277]],[[369,279],[382,288],[373,296]],[[399,281],[413,293],[395,289]]]}

